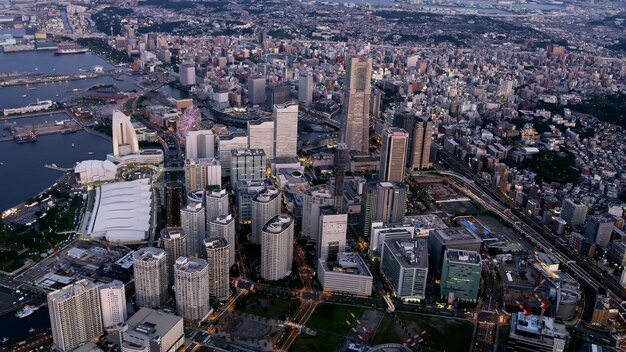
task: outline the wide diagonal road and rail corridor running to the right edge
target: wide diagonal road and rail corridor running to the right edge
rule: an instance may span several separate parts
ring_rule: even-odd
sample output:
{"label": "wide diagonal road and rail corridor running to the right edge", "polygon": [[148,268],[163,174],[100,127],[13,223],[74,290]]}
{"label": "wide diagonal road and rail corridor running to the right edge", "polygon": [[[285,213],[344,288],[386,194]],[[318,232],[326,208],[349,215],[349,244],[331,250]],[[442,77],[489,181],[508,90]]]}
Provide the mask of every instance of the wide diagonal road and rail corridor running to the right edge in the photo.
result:
{"label": "wide diagonal road and rail corridor running to the right edge", "polygon": [[[600,287],[607,288],[610,291],[611,299],[620,307],[621,302],[626,301],[626,290],[619,283],[606,277],[599,268],[581,259],[565,244],[562,237],[554,235],[545,225],[526,215],[515,203],[486,184],[460,160],[445,150],[440,149],[439,154],[444,165],[455,171],[455,173],[448,173],[448,175],[457,180],[455,183],[461,189],[508,221],[539,248],[553,254],[570,273],[584,281],[588,286],[596,291]],[[446,173],[444,172],[444,174]]]}

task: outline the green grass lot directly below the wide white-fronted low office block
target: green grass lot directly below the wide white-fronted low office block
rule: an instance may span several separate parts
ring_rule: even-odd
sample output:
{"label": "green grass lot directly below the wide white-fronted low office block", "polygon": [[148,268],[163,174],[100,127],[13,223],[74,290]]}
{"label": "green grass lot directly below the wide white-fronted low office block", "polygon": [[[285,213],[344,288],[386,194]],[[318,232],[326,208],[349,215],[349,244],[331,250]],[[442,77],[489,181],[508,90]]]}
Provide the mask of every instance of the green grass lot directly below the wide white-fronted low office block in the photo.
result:
{"label": "green grass lot directly below the wide white-fronted low office block", "polygon": [[350,326],[346,323],[346,320],[354,320],[352,317],[350,319],[347,318],[349,314],[352,313],[358,318],[362,312],[363,308],[360,307],[322,303],[315,308],[315,312],[313,312],[313,315],[311,315],[311,318],[305,325],[311,329],[345,336],[350,332]]}

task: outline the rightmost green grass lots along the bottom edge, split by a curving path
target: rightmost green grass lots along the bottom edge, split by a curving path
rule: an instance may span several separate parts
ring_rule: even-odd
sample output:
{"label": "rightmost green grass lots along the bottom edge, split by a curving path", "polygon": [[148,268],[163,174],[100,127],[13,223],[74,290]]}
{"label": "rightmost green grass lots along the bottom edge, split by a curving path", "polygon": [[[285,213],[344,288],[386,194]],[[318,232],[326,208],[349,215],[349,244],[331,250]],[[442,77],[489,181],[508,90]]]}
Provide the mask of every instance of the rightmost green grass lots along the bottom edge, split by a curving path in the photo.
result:
{"label": "rightmost green grass lots along the bottom edge, split by a curving path", "polygon": [[[397,313],[409,331],[427,330],[422,346],[436,351],[467,351],[472,342],[474,326],[469,321],[433,317],[421,314]],[[390,315],[386,314],[374,333],[372,344],[401,342],[403,331]]]}

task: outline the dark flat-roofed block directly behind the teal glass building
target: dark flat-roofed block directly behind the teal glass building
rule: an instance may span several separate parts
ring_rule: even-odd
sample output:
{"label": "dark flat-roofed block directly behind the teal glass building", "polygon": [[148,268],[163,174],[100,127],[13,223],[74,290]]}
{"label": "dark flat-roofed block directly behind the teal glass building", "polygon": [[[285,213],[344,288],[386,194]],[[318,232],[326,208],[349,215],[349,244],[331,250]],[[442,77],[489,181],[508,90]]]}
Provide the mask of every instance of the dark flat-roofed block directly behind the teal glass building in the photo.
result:
{"label": "dark flat-roofed block directly behind the teal glass building", "polygon": [[434,277],[439,277],[446,250],[457,249],[480,253],[483,240],[464,227],[434,229],[428,234],[430,268]]}

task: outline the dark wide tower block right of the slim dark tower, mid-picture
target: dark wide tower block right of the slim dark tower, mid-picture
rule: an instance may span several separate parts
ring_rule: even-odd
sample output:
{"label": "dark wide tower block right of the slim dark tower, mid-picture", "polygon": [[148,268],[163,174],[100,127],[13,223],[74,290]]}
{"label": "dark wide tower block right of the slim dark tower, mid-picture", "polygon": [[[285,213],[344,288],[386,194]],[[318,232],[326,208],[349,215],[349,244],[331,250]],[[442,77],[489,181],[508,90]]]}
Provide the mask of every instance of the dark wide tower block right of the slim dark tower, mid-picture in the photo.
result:
{"label": "dark wide tower block right of the slim dark tower, mid-picture", "polygon": [[368,182],[363,191],[361,231],[368,237],[372,222],[398,223],[406,213],[408,186],[400,182]]}

